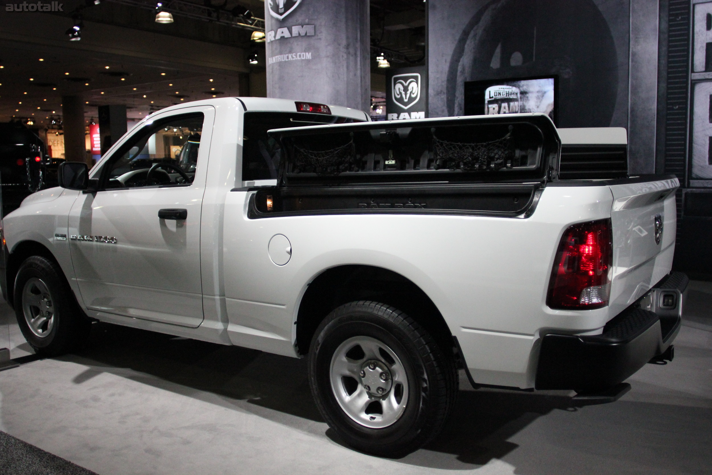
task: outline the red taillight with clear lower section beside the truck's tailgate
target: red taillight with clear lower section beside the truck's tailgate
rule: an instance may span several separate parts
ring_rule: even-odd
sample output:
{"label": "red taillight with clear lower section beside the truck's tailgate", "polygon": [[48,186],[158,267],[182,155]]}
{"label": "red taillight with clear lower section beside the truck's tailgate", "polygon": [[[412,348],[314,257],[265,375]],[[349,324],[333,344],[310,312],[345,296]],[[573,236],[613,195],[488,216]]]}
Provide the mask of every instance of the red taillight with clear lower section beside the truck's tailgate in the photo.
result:
{"label": "red taillight with clear lower section beside the truck's tailgate", "polygon": [[608,305],[612,239],[610,219],[569,226],[549,281],[550,308],[589,310]]}

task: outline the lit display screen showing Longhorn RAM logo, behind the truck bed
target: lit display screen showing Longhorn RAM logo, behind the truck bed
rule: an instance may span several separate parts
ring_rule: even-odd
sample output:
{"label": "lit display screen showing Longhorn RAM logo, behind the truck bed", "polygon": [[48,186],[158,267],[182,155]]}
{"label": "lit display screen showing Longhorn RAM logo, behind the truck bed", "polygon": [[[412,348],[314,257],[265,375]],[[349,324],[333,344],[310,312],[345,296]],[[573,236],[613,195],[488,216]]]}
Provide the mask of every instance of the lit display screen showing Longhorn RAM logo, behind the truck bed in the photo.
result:
{"label": "lit display screen showing Longhorn RAM logo, behind the truck bed", "polygon": [[540,112],[556,123],[557,78],[511,78],[465,83],[465,115]]}

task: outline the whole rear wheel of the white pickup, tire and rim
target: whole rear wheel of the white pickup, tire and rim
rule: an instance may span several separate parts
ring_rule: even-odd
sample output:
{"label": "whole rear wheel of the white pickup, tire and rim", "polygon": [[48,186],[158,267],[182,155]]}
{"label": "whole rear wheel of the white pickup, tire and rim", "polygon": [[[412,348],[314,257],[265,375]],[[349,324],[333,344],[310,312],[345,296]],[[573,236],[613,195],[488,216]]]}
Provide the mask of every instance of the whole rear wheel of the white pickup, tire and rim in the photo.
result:
{"label": "whole rear wheel of the white pickup, tire and rim", "polygon": [[443,427],[457,395],[454,361],[403,312],[351,302],[319,325],[309,383],[322,416],[355,449],[398,457]]}

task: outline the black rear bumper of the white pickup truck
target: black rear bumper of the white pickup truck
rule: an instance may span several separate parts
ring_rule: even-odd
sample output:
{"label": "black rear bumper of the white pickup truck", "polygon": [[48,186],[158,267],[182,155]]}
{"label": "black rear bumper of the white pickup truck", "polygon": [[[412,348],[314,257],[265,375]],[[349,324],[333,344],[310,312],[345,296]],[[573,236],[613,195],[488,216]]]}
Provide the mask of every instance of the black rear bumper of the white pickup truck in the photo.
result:
{"label": "black rear bumper of the white pickup truck", "polygon": [[683,273],[675,272],[651,289],[654,298],[676,293],[679,308],[659,310],[643,298],[610,320],[601,335],[543,336],[536,389],[595,391],[626,380],[671,345],[680,330],[688,282]]}

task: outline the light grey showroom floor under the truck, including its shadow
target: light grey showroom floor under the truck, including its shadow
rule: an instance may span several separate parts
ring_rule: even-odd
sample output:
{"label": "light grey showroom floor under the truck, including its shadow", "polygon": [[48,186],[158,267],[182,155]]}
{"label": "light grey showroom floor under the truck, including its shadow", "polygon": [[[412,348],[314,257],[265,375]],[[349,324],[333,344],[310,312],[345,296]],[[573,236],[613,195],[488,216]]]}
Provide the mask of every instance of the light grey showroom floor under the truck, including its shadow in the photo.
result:
{"label": "light grey showroom floor under the truck, including its shadow", "polygon": [[[461,391],[443,434],[403,459],[343,447],[305,362],[114,325],[88,348],[0,372],[0,431],[109,474],[709,474],[712,283],[693,282],[675,360],[610,404]],[[0,348],[29,348],[0,304]]]}

